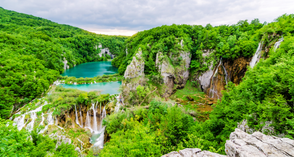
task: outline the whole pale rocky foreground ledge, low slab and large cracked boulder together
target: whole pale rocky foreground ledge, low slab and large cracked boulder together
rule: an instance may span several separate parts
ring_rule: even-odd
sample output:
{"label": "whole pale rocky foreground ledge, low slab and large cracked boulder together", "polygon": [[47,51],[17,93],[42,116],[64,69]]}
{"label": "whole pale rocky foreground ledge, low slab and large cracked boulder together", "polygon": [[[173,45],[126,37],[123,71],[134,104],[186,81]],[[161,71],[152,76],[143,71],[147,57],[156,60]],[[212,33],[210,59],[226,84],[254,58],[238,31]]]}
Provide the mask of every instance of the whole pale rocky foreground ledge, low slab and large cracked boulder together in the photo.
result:
{"label": "whole pale rocky foreground ledge, low slab and large cracked boulder together", "polygon": [[[245,133],[236,128],[226,141],[225,152],[227,157],[284,157],[294,156],[294,140],[264,135],[256,131],[253,134]],[[161,157],[225,157],[210,151],[201,151],[199,148],[186,148],[179,152],[171,152]]]}

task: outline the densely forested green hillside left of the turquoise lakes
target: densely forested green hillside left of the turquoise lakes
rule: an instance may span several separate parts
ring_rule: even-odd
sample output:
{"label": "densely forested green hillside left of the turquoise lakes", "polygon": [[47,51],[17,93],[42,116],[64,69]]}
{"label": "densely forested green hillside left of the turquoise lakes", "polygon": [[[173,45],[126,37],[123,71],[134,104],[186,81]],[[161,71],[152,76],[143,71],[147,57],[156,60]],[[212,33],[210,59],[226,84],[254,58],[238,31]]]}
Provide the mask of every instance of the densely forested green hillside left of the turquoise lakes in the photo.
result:
{"label": "densely forested green hillside left of the turquoise lakes", "polygon": [[[0,114],[6,118],[48,90],[64,63],[69,68],[118,54],[127,37],[95,34],[47,19],[0,8]],[[95,48],[96,47],[96,48]]]}

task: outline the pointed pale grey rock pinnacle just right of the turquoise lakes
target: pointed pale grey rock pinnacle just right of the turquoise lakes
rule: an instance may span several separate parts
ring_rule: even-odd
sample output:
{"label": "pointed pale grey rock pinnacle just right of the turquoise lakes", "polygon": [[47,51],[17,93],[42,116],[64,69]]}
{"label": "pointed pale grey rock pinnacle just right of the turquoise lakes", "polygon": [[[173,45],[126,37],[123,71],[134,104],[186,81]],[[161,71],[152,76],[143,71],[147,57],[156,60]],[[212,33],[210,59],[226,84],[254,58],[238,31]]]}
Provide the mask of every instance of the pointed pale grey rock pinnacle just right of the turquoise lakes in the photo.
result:
{"label": "pointed pale grey rock pinnacle just right of the turquoise lakes", "polygon": [[138,53],[133,57],[130,65],[127,66],[124,75],[125,79],[131,79],[143,75],[145,62],[141,55],[142,50],[139,48]]}

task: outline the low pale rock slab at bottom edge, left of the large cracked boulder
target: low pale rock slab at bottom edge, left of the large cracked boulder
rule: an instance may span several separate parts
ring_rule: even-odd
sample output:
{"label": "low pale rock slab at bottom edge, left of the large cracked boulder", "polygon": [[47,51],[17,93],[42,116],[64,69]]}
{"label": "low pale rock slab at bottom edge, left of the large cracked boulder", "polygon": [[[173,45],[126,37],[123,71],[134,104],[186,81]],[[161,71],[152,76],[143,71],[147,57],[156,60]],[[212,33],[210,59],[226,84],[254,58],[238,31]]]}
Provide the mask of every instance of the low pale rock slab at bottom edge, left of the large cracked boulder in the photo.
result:
{"label": "low pale rock slab at bottom edge, left of the large cracked boulder", "polygon": [[199,148],[186,148],[179,152],[173,151],[161,157],[228,157],[210,151],[201,151]]}

